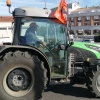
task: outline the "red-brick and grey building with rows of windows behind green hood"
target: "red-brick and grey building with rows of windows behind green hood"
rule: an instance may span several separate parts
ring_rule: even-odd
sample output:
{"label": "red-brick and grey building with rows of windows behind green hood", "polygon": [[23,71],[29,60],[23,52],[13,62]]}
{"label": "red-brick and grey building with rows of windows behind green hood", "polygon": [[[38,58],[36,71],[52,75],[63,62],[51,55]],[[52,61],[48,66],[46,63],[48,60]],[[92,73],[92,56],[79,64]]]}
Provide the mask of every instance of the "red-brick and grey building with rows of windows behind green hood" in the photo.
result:
{"label": "red-brick and grey building with rows of windows behind green hood", "polygon": [[100,6],[69,10],[68,21],[71,22],[71,30],[75,35],[98,35],[100,34]]}

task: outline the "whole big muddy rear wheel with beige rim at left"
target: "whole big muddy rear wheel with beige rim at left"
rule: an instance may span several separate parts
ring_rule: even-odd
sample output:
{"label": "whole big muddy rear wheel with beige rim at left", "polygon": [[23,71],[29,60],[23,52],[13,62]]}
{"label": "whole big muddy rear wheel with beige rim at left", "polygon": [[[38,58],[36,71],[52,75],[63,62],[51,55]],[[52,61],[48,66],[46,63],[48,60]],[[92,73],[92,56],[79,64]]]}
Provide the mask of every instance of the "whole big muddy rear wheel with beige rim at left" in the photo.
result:
{"label": "whole big muddy rear wheel with beige rim at left", "polygon": [[8,52],[0,62],[0,100],[38,100],[44,78],[38,57],[29,52]]}

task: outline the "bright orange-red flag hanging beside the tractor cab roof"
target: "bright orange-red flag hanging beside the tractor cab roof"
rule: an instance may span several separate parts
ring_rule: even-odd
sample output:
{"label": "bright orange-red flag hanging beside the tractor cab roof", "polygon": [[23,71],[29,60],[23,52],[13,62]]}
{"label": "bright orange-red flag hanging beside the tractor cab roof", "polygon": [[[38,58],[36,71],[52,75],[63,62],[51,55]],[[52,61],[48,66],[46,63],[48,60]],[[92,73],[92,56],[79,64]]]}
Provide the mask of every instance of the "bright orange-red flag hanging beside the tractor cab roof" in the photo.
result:
{"label": "bright orange-red flag hanging beside the tractor cab roof", "polygon": [[67,19],[65,18],[64,14],[68,13],[68,6],[65,0],[60,1],[60,5],[58,6],[57,10],[54,13],[54,16],[60,20],[63,24],[66,24]]}

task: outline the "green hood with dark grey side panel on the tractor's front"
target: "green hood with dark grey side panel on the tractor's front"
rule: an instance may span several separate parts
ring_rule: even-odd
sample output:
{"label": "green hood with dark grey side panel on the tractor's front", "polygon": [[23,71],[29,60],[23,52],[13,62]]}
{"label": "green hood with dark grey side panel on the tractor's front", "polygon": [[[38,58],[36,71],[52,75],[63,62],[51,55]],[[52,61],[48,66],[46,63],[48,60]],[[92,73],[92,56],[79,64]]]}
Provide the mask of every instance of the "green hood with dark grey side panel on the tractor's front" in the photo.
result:
{"label": "green hood with dark grey side panel on the tractor's front", "polygon": [[75,54],[77,61],[83,61],[87,58],[100,59],[100,44],[74,41],[70,49],[70,53]]}

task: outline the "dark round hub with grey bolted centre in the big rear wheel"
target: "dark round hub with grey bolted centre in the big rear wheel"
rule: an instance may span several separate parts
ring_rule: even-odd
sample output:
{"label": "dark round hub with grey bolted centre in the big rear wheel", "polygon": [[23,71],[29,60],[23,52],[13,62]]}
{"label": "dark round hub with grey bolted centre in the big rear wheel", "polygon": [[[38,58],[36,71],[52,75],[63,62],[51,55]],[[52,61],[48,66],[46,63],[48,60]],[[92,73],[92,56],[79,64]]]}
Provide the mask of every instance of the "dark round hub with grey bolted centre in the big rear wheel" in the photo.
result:
{"label": "dark round hub with grey bolted centre in the big rear wheel", "polygon": [[15,69],[7,77],[8,87],[13,91],[26,89],[30,84],[30,74],[25,69]]}

